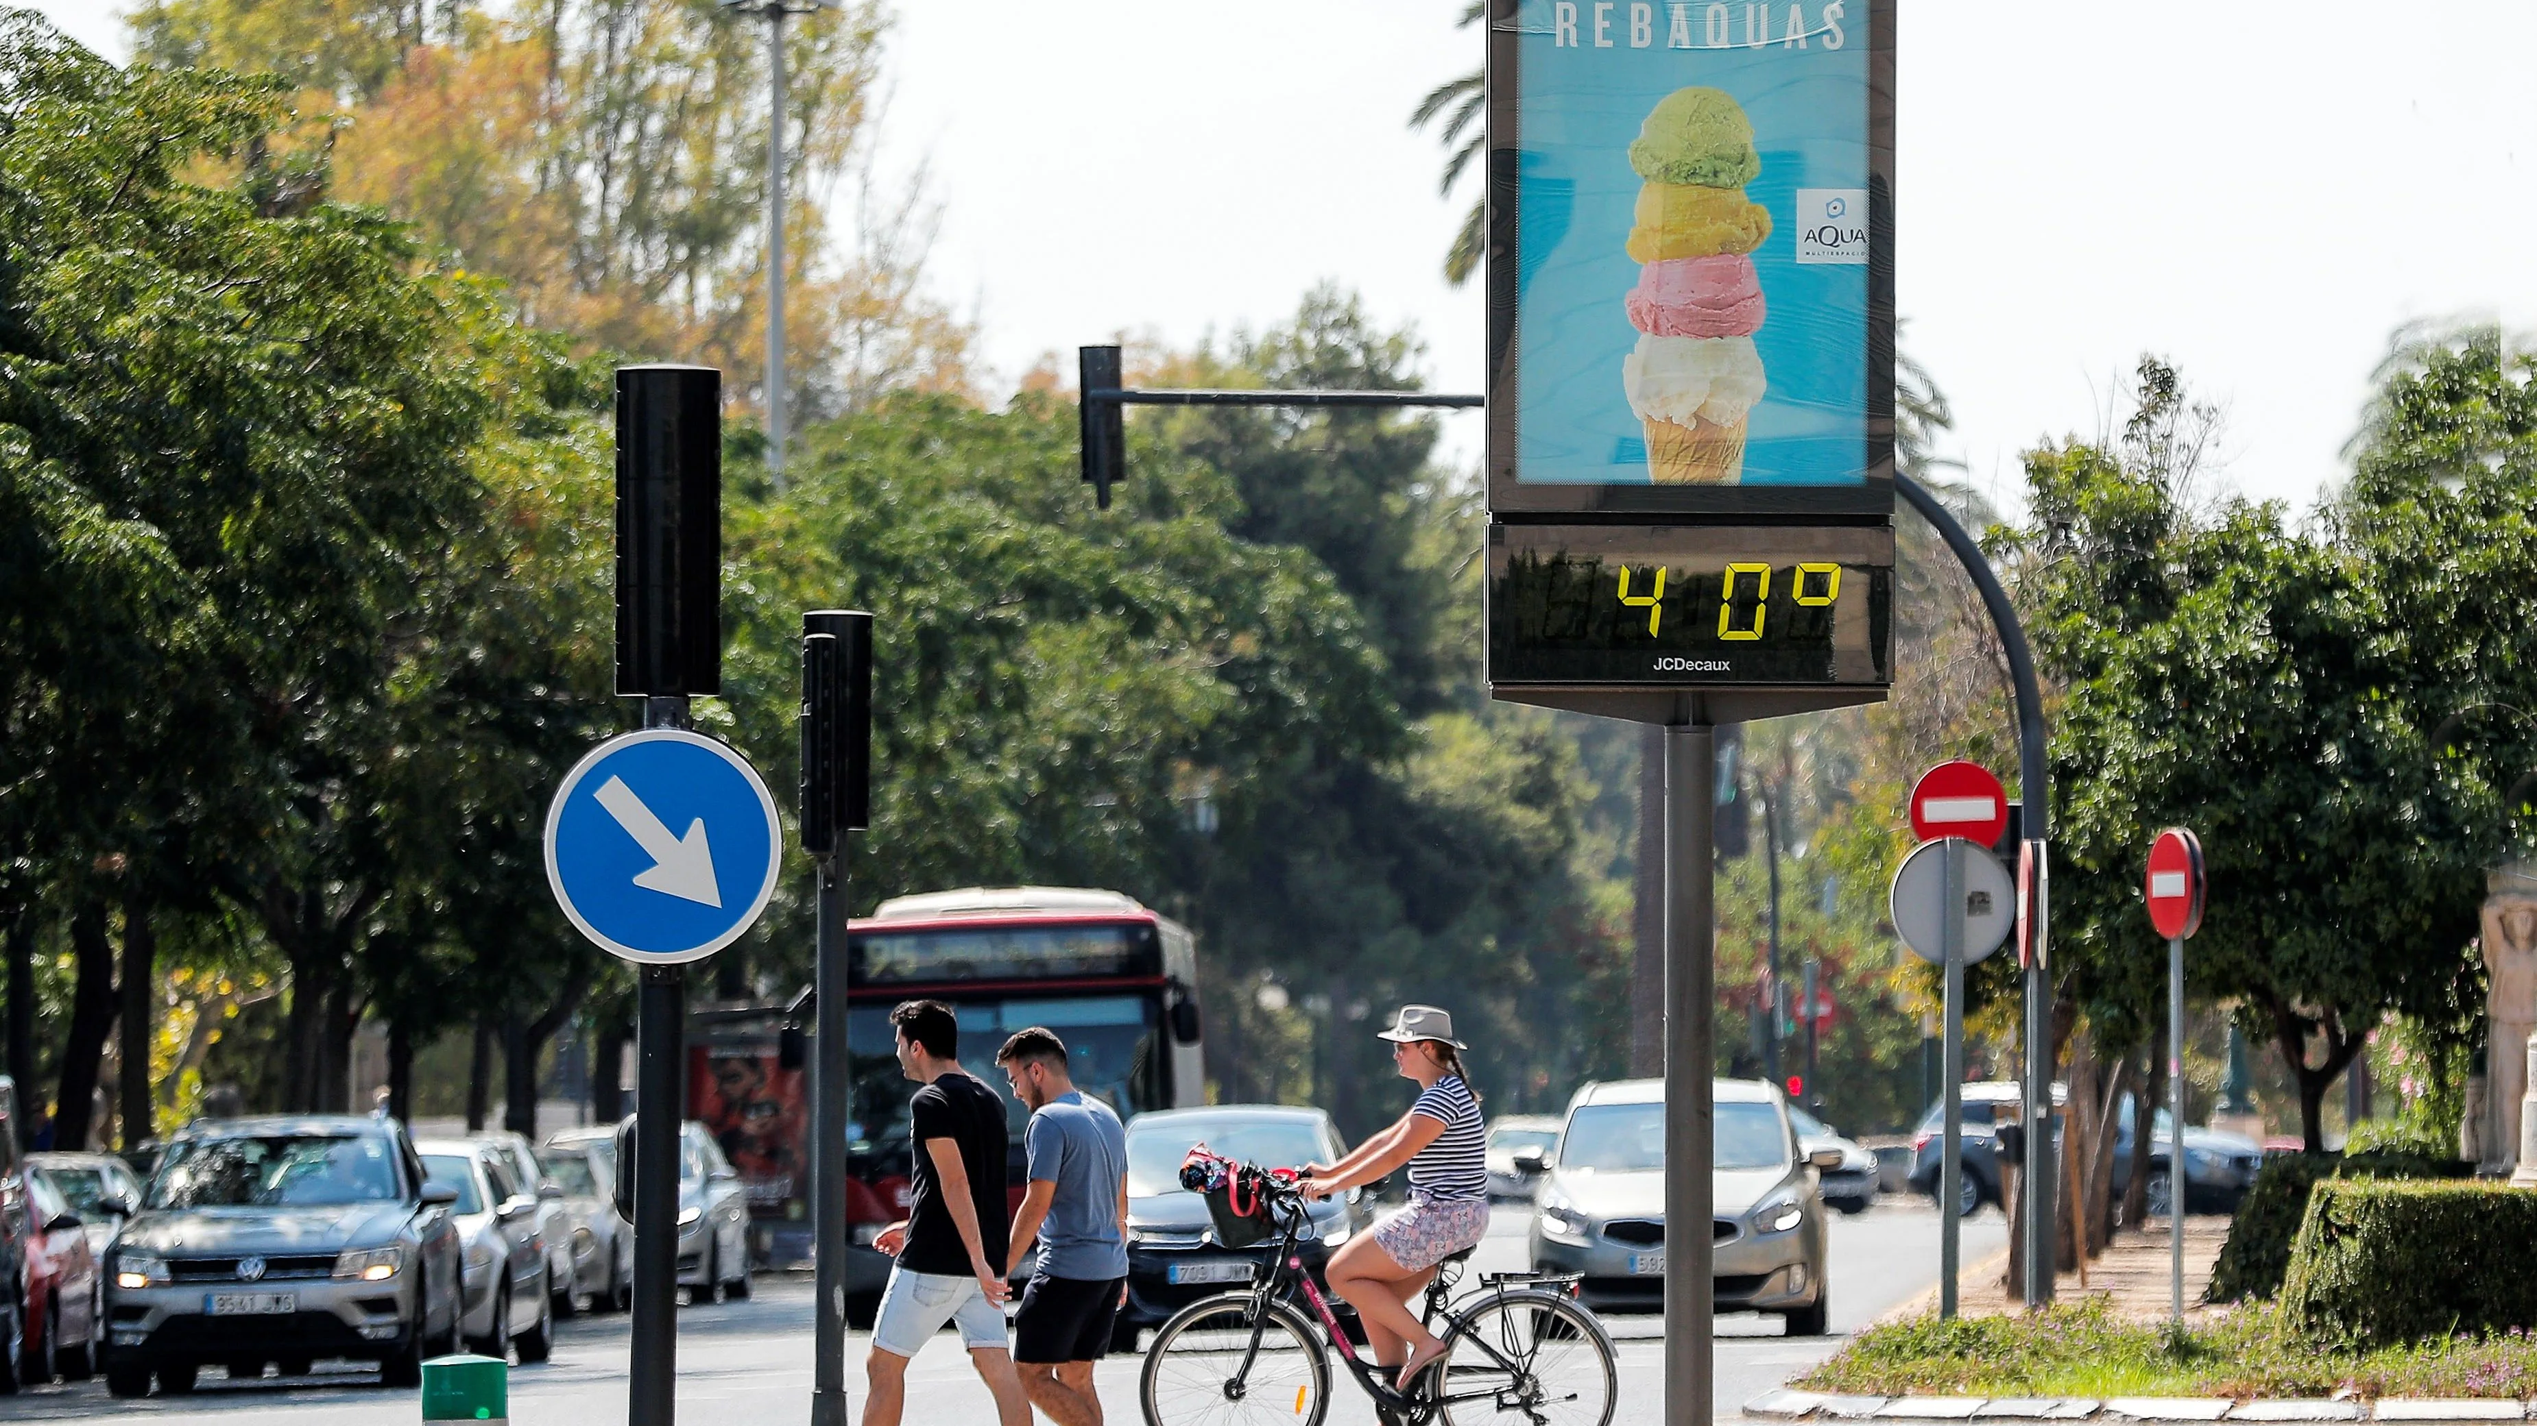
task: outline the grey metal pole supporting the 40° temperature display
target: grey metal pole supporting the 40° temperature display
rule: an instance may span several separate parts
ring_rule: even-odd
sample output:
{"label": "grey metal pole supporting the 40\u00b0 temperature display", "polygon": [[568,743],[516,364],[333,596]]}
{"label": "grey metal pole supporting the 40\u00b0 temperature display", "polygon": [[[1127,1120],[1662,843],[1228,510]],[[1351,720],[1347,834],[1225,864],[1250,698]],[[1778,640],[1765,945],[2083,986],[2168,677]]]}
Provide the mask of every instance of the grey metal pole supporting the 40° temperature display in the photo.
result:
{"label": "grey metal pole supporting the 40\u00b0 temperature display", "polygon": [[1710,1000],[1715,997],[1710,809],[1718,746],[1707,723],[1664,728],[1664,1421],[1710,1426],[1715,1345],[1710,1259]]}

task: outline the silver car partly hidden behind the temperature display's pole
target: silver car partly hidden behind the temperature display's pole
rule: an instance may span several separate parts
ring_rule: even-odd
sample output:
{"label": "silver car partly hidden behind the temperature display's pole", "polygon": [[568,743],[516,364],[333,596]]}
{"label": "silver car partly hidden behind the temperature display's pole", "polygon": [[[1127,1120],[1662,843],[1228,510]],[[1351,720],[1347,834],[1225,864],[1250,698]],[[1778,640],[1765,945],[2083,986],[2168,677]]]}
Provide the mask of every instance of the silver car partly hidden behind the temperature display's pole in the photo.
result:
{"label": "silver car partly hidden behind the temperature display's pole", "polygon": [[[1824,1198],[1832,1149],[1799,1149],[1789,1104],[1758,1078],[1712,1083],[1718,1312],[1776,1312],[1791,1337],[1822,1337]],[[1596,1312],[1664,1309],[1664,1081],[1588,1083],[1568,1101],[1560,1152],[1532,1210],[1535,1271],[1581,1274]]]}

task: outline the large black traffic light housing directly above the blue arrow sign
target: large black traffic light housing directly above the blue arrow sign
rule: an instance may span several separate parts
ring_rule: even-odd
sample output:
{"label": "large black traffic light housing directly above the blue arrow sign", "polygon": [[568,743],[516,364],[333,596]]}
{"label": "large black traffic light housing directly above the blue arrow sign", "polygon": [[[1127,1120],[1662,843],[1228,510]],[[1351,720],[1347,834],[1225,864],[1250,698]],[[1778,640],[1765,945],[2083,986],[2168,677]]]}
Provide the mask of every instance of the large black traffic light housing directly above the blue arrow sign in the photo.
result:
{"label": "large black traffic light housing directly above the blue arrow sign", "polygon": [[723,373],[616,368],[616,693],[723,690]]}

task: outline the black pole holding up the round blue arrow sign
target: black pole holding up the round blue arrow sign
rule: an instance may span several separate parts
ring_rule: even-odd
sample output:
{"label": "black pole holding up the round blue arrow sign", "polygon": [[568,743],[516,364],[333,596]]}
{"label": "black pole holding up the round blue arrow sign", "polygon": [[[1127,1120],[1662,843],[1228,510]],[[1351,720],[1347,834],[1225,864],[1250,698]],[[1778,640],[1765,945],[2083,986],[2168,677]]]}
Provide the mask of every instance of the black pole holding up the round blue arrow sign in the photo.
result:
{"label": "black pole holding up the round blue arrow sign", "polygon": [[[644,728],[685,728],[685,698],[644,698]],[[632,1426],[677,1421],[677,1134],[688,1119],[685,967],[642,967],[634,1068],[634,1363]],[[624,1165],[619,1165],[624,1172]]]}

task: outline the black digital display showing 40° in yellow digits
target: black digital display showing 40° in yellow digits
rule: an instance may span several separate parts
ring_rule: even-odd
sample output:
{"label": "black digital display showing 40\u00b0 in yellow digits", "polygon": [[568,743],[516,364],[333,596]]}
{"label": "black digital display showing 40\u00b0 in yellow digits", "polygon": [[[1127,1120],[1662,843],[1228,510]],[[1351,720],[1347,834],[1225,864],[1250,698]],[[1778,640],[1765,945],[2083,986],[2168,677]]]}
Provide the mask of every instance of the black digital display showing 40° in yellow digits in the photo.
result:
{"label": "black digital display showing 40\u00b0 in yellow digits", "polygon": [[1489,683],[1885,688],[1890,525],[1492,525]]}

